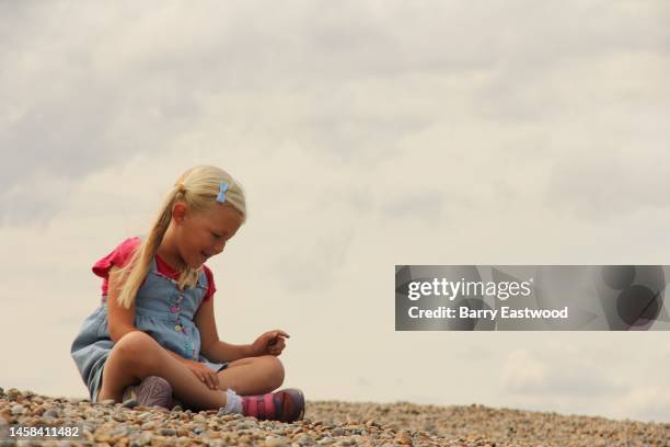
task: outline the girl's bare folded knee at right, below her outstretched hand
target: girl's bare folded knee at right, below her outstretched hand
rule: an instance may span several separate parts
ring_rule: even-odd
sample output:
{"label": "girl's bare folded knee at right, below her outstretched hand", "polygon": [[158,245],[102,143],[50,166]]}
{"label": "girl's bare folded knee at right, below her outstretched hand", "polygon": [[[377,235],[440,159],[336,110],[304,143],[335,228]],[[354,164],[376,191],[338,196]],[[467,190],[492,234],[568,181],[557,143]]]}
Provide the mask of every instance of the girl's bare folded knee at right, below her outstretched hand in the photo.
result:
{"label": "girl's bare folded knee at right, below her outstretched hand", "polygon": [[231,362],[217,373],[219,389],[233,389],[240,396],[264,394],[284,383],[284,366],[274,355],[246,357]]}

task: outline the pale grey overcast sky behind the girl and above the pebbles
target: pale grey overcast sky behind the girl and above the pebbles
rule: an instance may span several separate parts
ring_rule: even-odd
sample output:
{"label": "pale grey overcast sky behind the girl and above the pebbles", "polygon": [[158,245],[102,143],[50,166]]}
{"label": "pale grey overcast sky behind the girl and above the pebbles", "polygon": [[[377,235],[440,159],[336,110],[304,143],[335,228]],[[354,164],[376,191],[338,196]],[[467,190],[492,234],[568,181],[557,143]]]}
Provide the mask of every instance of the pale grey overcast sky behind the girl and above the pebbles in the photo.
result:
{"label": "pale grey overcast sky behind the girl and above the pebbles", "polygon": [[[652,333],[394,332],[395,264],[669,264],[670,3],[0,2],[0,386],[84,397],[91,265],[240,180],[222,339],[308,399],[670,421]],[[9,346],[8,346],[9,345]]]}

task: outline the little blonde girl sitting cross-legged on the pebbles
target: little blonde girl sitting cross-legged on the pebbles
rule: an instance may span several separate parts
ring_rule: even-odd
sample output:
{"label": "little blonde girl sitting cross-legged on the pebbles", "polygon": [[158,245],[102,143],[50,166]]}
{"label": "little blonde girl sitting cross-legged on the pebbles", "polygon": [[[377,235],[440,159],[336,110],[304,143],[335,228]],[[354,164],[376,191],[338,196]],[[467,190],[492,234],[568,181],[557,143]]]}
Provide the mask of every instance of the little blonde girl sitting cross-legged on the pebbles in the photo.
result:
{"label": "little blonde girl sitting cross-legged on the pebbles", "polygon": [[244,192],[227,172],[200,165],[168,194],[149,236],[127,239],[100,260],[102,306],[85,319],[71,354],[91,401],[135,399],[171,408],[223,409],[259,420],[304,414],[277,358],[289,335],[268,331],[250,345],[219,340],[216,290],[205,262],[245,221]]}

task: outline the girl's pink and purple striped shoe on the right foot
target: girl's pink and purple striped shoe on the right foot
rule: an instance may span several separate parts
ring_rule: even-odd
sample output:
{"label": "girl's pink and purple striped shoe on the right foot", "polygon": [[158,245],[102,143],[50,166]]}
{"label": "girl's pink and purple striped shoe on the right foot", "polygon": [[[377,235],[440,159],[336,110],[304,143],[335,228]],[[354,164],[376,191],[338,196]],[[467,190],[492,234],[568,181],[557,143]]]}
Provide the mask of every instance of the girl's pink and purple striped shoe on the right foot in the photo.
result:
{"label": "girl's pink and purple striped shoe on the right foot", "polygon": [[261,396],[242,396],[242,414],[257,420],[293,422],[304,415],[302,391],[288,388]]}

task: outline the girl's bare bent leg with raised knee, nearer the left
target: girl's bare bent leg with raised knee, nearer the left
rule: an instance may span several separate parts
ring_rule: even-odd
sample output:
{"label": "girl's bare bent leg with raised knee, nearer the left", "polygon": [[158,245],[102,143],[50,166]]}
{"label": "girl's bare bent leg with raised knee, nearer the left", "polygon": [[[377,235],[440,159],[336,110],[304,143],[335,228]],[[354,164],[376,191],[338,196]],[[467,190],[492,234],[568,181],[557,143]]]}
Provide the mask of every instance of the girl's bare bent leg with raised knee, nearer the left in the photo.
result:
{"label": "girl's bare bent leg with raised knee, nearer the left", "polygon": [[155,340],[140,331],[127,333],[112,348],[103,369],[99,400],[120,402],[126,387],[148,376],[168,380],[174,396],[194,409],[226,406],[226,393],[209,389]]}

